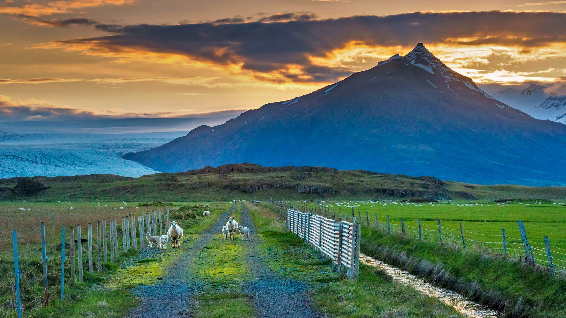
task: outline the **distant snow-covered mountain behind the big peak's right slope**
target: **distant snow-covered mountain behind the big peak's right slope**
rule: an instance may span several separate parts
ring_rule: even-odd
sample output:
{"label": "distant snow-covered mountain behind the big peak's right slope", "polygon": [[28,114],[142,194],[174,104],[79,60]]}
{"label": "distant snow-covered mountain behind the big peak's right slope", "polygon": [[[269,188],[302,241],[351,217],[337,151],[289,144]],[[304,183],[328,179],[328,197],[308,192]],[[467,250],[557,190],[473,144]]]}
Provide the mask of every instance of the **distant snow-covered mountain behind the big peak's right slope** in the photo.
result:
{"label": "distant snow-covered mountain behind the big peak's right slope", "polygon": [[547,87],[530,84],[525,89],[503,89],[491,95],[534,118],[566,124],[566,95],[548,92]]}

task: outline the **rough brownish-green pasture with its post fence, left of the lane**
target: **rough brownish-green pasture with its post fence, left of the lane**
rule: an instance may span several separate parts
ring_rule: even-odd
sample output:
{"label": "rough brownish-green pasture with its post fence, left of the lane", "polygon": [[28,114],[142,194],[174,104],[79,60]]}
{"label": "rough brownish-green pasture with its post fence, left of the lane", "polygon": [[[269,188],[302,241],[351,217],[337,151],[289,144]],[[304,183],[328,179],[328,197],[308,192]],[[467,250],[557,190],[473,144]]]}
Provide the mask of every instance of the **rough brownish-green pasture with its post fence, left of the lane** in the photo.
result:
{"label": "rough brownish-green pasture with its post fence, left of the lane", "polygon": [[[135,204],[128,207],[125,201],[0,203],[3,212],[0,225],[0,274],[3,277],[0,280],[0,316],[11,316],[18,307],[24,317],[34,316],[42,304],[47,304],[49,299],[58,299],[59,294],[61,299],[65,298],[64,294],[67,294],[67,299],[80,298],[84,283],[100,282],[104,279],[103,270],[116,268],[123,257],[134,255],[138,246],[144,246],[145,238],[139,232],[166,231],[169,208],[163,205],[136,207]],[[137,216],[150,216],[148,224],[151,227],[142,229]],[[101,224],[102,220],[106,220],[105,224]],[[12,234],[18,248],[16,268]],[[42,237],[45,239],[43,248]],[[65,242],[62,244],[63,238]],[[74,248],[71,242],[74,242]],[[62,247],[65,247],[65,253],[62,253]],[[19,274],[15,274],[14,270]],[[62,273],[65,280],[62,280]],[[65,287],[62,288],[63,281]],[[20,292],[21,305],[16,302],[17,291]]]}

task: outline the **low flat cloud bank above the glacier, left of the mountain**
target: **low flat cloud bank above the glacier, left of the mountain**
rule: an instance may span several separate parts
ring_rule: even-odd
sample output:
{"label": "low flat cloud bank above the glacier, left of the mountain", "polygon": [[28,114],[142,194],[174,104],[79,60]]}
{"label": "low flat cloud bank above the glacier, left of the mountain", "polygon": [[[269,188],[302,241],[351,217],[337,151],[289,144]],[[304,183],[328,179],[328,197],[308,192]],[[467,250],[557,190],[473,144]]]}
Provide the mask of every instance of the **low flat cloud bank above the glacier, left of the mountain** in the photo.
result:
{"label": "low flat cloud bank above the glacier, left of the mountain", "polygon": [[15,121],[67,121],[81,119],[112,119],[112,118],[155,118],[155,117],[171,117],[171,118],[214,118],[225,117],[230,115],[239,115],[244,110],[221,110],[210,111],[207,113],[175,113],[172,111],[160,111],[155,113],[117,113],[108,111],[107,114],[97,114],[90,110],[67,108],[59,105],[50,105],[44,103],[27,104],[20,101],[11,101],[9,98],[0,96],[0,118],[2,122]]}

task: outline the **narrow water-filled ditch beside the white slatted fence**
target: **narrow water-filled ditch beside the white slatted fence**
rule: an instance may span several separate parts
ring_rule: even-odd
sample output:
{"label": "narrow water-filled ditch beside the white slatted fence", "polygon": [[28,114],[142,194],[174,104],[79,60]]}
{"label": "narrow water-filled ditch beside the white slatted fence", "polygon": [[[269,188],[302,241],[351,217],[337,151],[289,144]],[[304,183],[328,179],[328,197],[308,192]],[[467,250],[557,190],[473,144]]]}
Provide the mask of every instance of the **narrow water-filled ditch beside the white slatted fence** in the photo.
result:
{"label": "narrow water-filled ditch beside the white slatted fence", "polygon": [[409,285],[414,289],[421,291],[421,293],[438,298],[442,300],[448,306],[453,307],[464,317],[477,317],[477,318],[494,318],[503,317],[500,313],[494,310],[490,310],[482,304],[472,302],[455,291],[445,289],[442,287],[436,287],[431,283],[425,282],[422,278],[409,274],[406,270],[401,270],[396,267],[384,263],[380,260],[376,260],[370,256],[360,253],[359,260],[366,265],[377,267],[384,270],[389,276],[393,277],[394,280],[402,283],[403,285]]}

